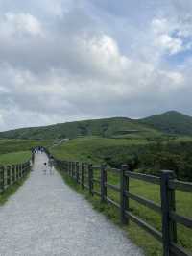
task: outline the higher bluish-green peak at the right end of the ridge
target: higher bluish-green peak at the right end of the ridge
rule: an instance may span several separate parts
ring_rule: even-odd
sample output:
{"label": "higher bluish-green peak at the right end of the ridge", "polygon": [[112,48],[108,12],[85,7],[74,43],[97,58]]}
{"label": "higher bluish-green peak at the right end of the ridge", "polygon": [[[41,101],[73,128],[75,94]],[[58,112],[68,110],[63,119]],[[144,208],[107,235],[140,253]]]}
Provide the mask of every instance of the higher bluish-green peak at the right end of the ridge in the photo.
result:
{"label": "higher bluish-green peak at the right end of the ridge", "polygon": [[152,115],[139,122],[163,133],[192,136],[192,117],[176,111]]}

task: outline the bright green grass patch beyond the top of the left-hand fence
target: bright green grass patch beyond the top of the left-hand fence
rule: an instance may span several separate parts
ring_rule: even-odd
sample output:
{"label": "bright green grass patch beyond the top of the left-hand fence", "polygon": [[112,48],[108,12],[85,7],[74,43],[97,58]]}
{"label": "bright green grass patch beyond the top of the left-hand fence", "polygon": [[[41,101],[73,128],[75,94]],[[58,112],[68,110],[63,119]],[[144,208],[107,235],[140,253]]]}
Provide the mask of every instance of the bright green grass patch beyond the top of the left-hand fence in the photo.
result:
{"label": "bright green grass patch beyond the top of the left-hand fence", "polygon": [[0,165],[16,165],[24,163],[31,158],[30,151],[20,151],[0,155]]}

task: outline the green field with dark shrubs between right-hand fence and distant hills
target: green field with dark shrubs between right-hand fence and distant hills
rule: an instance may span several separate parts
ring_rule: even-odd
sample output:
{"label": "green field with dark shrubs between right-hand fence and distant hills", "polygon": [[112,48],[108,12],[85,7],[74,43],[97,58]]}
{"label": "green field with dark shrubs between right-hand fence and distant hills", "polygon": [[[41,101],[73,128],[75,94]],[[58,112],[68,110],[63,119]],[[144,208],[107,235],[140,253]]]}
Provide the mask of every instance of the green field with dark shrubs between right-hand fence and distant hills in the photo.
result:
{"label": "green field with dark shrubs between right-hand fence and distant hills", "polygon": [[60,159],[107,163],[112,167],[128,164],[132,170],[158,175],[161,169],[174,170],[178,179],[192,181],[192,139],[107,139],[84,137],[51,149]]}

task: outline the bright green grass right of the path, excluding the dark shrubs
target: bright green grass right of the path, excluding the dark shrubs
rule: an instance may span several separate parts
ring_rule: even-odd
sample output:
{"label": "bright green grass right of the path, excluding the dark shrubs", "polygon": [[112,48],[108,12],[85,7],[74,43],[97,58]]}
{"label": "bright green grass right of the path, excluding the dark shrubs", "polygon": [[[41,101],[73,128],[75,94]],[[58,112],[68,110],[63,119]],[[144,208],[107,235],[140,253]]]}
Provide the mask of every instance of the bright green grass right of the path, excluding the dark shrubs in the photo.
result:
{"label": "bright green grass right of the path, excluding the dark shrubs", "polygon": [[[90,137],[68,141],[58,147],[52,148],[51,151],[56,157],[60,159],[93,161],[94,163],[98,163],[101,162],[102,159],[100,156],[95,157],[95,152],[100,151],[100,149],[104,148],[105,146],[140,146],[146,142],[147,141],[145,140],[112,140]],[[97,172],[95,172],[95,175],[99,176]],[[69,178],[66,176],[64,178],[70,185],[73,187],[75,186],[75,184]],[[108,179],[111,184],[119,184],[119,179],[115,175],[109,174]],[[160,195],[158,186],[149,185],[145,182],[131,179],[130,187],[131,192],[145,196],[146,198],[159,203]],[[77,189],[76,186],[75,188]],[[99,187],[97,187],[97,189],[99,189]],[[79,189],[78,191],[82,192]],[[86,192],[85,194],[87,195]],[[108,195],[115,201],[119,201],[119,195],[117,192],[108,190]],[[99,200],[95,197],[90,198],[87,196],[87,198],[93,203],[93,206],[96,207],[96,209],[104,212],[104,214],[106,214],[108,218],[111,218],[115,223],[119,223],[119,213],[115,208],[107,205],[101,205]],[[158,230],[160,230],[161,219],[156,213],[144,206],[138,205],[132,200],[130,206],[132,212],[135,215],[148,221]],[[190,193],[177,192],[177,211],[184,216],[192,218],[192,198]],[[125,229],[128,231],[129,237],[132,238],[132,241],[143,247],[147,255],[162,255],[161,245],[157,243],[156,240],[153,239],[150,235],[146,234],[146,232],[132,224],[132,222],[131,225],[129,227],[125,227]],[[179,243],[192,251],[192,232],[179,226]]]}

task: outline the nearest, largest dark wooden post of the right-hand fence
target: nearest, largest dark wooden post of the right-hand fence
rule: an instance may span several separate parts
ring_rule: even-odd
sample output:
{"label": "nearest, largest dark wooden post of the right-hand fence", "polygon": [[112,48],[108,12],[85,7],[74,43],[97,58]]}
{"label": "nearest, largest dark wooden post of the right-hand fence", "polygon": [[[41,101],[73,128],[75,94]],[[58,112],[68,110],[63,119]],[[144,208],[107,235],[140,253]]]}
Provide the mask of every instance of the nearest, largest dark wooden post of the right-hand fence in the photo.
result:
{"label": "nearest, largest dark wooden post of the right-hand fence", "polygon": [[161,209],[162,209],[162,243],[163,255],[170,256],[170,243],[177,243],[176,222],[170,219],[170,211],[176,210],[175,190],[170,189],[169,180],[174,179],[174,172],[171,170],[161,171]]}

